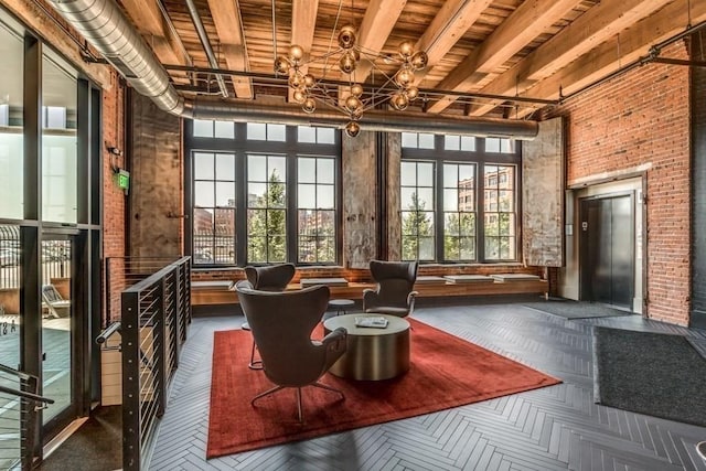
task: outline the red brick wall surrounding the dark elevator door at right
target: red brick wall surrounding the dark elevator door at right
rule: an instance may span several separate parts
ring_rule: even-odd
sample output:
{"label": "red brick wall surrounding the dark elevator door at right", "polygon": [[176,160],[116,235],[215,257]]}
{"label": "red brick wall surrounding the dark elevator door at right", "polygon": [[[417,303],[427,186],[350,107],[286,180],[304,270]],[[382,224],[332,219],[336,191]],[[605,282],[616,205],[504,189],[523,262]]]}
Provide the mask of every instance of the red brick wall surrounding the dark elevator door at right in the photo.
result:
{"label": "red brick wall surrounding the dark elevator door at right", "polygon": [[[678,42],[665,57],[688,58]],[[685,325],[689,310],[688,68],[649,64],[568,99],[567,184],[646,167],[650,318]]]}

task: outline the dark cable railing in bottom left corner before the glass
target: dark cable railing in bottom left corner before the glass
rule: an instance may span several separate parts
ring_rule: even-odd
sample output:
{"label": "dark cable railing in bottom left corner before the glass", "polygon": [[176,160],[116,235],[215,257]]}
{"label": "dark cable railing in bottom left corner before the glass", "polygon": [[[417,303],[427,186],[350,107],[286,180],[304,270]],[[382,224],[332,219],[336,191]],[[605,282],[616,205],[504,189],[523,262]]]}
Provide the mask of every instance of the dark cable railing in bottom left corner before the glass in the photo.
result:
{"label": "dark cable railing in bottom left corner before the glass", "polygon": [[33,468],[38,456],[38,411],[54,404],[38,390],[36,376],[0,365],[0,469]]}

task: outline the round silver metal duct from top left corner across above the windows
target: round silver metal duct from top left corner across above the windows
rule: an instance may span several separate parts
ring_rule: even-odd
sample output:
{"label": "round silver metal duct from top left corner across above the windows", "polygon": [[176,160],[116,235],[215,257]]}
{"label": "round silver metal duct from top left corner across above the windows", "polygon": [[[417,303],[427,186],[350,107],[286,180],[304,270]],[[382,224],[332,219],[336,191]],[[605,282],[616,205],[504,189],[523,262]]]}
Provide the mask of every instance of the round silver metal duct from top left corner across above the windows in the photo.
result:
{"label": "round silver metal duct from top left corner across above the windows", "polygon": [[[167,71],[126,18],[115,0],[51,0],[54,9],[140,94],[162,110],[184,118],[231,121],[271,121],[286,125],[320,125],[342,128],[345,117],[334,110],[307,115],[297,106],[263,106],[254,101],[185,100],[169,81]],[[466,116],[425,115],[371,110],[361,128],[376,131],[502,136],[531,140],[538,132],[535,121]]]}

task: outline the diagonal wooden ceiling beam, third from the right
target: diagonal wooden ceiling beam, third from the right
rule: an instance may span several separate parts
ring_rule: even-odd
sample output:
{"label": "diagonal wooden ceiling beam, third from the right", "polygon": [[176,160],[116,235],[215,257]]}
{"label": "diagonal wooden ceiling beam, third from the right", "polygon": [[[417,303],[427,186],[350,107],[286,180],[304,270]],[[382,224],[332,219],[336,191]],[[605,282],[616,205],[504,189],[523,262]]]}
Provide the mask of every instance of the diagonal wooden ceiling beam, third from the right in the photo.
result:
{"label": "diagonal wooden ceiling beam, third from the right", "polygon": [[[546,31],[580,0],[532,0],[522,3],[503,23],[474,49],[437,88],[463,92],[504,64],[522,47]],[[447,96],[431,105],[428,113],[440,113],[458,97]]]}

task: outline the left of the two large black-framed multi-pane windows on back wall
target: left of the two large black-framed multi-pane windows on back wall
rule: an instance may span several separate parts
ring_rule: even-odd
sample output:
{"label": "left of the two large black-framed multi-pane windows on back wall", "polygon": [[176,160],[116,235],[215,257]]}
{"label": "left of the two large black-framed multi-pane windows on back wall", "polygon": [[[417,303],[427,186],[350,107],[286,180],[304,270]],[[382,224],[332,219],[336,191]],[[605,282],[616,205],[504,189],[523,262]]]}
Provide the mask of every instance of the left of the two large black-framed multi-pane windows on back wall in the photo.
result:
{"label": "left of the two large black-framed multi-pane windows on back wall", "polygon": [[339,263],[339,131],[190,120],[184,135],[194,265]]}

